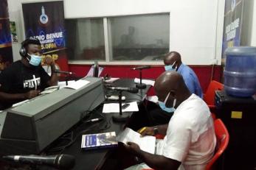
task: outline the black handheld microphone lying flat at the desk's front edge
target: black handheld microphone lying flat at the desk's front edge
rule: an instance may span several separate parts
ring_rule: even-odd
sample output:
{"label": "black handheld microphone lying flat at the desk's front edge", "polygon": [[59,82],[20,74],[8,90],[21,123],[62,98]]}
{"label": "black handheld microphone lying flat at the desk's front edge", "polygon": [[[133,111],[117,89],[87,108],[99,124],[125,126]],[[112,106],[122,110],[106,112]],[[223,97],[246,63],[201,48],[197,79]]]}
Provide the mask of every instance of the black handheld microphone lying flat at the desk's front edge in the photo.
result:
{"label": "black handheld microphone lying flat at the desk's front edge", "polygon": [[53,166],[57,169],[72,169],[75,166],[75,157],[72,155],[7,155],[4,160],[12,160],[18,163],[27,163],[32,165]]}

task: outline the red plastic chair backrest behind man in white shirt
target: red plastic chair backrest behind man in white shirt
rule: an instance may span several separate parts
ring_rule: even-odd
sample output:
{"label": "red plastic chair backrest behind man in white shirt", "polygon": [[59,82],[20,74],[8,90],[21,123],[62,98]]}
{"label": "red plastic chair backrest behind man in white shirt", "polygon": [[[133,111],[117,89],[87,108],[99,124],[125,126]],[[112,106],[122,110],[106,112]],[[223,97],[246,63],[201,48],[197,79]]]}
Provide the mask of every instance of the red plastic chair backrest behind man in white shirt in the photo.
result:
{"label": "red plastic chair backrest behind man in white shirt", "polygon": [[220,118],[214,121],[214,128],[217,139],[216,152],[215,155],[213,155],[210,162],[207,163],[205,170],[212,169],[212,165],[216,162],[216,160],[218,160],[218,157],[220,157],[221,154],[224,152],[227,144],[229,144],[229,132],[226,130],[225,124],[223,123],[223,121],[221,121]]}

